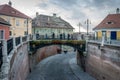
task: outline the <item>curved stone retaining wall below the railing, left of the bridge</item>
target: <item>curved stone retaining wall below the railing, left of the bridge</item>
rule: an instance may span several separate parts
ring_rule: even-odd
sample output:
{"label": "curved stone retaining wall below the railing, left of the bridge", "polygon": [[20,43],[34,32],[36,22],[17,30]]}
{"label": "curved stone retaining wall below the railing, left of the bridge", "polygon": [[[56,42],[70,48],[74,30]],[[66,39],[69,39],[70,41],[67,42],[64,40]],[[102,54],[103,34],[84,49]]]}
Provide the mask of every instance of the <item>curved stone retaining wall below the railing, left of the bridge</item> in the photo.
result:
{"label": "curved stone retaining wall below the railing, left of the bridge", "polygon": [[10,61],[9,80],[25,80],[29,73],[27,44],[15,51]]}

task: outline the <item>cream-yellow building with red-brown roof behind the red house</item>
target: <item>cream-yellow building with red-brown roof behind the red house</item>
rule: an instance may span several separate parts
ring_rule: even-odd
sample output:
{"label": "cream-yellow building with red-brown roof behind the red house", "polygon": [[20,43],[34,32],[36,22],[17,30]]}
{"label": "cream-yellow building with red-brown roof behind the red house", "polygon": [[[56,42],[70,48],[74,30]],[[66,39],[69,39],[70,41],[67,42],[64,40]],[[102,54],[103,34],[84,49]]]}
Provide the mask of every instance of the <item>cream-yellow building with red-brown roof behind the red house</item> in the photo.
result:
{"label": "cream-yellow building with red-brown roof behind the red house", "polygon": [[24,36],[32,33],[32,19],[9,5],[0,5],[0,17],[11,24],[10,36]]}

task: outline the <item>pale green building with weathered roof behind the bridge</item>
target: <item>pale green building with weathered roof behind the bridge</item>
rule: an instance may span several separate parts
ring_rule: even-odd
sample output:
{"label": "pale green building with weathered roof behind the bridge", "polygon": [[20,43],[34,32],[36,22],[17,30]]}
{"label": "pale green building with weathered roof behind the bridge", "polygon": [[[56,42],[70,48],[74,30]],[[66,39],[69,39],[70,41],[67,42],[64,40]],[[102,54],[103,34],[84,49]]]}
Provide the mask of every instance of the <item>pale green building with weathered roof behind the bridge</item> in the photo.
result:
{"label": "pale green building with weathered roof behind the bridge", "polygon": [[73,27],[56,14],[53,16],[38,15],[32,21],[32,30],[34,34],[39,34],[43,38],[64,37],[67,38],[73,34]]}

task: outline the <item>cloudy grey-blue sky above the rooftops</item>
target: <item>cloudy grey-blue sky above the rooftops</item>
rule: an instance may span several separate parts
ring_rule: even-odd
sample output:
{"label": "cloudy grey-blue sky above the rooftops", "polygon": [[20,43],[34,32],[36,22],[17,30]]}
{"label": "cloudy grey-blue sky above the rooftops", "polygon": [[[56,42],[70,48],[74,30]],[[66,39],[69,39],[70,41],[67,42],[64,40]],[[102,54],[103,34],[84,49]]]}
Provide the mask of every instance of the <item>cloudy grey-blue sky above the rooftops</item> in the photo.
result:
{"label": "cloudy grey-blue sky above the rooftops", "polygon": [[[0,5],[9,0],[0,0]],[[85,21],[89,19],[89,32],[97,26],[108,14],[115,14],[120,8],[120,0],[11,0],[12,7],[34,18],[36,12],[61,17],[69,22],[75,32],[86,31]]]}

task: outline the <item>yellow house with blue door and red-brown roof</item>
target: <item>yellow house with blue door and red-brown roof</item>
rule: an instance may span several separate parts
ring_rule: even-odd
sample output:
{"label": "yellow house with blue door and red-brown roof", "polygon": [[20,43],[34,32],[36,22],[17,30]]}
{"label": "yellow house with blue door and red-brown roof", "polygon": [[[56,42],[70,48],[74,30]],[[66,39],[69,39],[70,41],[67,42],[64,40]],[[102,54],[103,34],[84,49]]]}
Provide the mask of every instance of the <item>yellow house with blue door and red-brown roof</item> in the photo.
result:
{"label": "yellow house with blue door and red-brown roof", "polygon": [[[118,9],[117,9],[118,10]],[[120,14],[109,14],[107,17],[93,29],[97,39],[105,36],[106,40],[120,40]]]}

